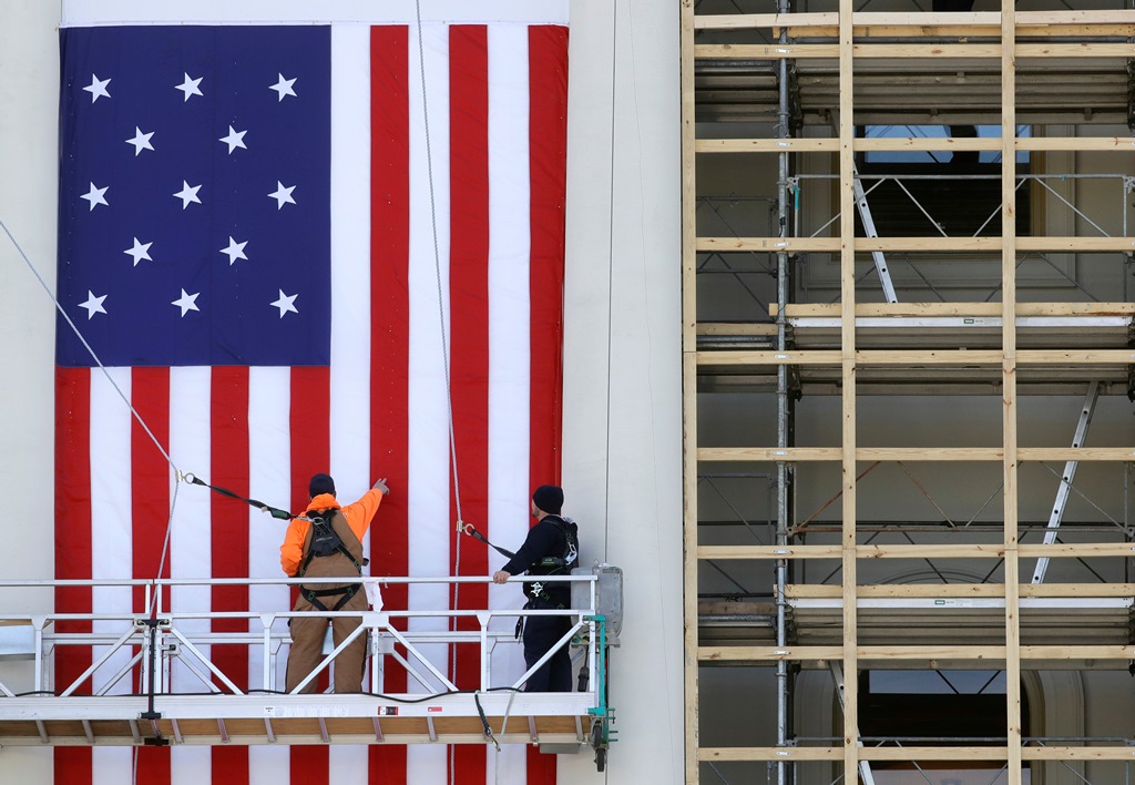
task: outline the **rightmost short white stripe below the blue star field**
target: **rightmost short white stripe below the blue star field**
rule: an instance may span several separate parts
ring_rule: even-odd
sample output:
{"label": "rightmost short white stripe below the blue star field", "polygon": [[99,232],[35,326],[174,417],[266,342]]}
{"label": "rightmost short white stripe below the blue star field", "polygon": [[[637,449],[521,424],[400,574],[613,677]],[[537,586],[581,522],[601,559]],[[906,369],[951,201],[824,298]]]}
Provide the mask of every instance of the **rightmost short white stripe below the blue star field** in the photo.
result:
{"label": "rightmost short white stripe below the blue star field", "polygon": [[[291,499],[291,452],[288,410],[292,404],[291,371],[287,368],[249,369],[249,495],[252,499]],[[249,508],[249,577],[280,576],[279,549],[284,541],[281,521]],[[283,586],[250,586],[249,608],[291,610],[289,594]],[[259,629],[253,624],[253,629]],[[275,632],[287,632],[277,621]],[[249,651],[249,686],[263,685],[263,660],[259,648]],[[286,650],[276,665],[276,688],[284,688]],[[268,685],[263,685],[268,686]],[[291,778],[291,748],[254,745],[249,748],[249,785],[280,785]]]}

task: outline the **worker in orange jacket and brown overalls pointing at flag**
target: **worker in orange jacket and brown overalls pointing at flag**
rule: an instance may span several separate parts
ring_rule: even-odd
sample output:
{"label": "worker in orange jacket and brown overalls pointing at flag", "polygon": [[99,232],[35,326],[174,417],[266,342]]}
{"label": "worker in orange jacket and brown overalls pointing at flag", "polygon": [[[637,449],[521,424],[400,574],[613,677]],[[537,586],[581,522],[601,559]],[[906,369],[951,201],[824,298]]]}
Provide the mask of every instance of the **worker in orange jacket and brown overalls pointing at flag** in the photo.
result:
{"label": "worker in orange jacket and brown overalls pointing at flag", "polygon": [[[306,518],[322,518],[327,527],[316,527],[310,520],[293,518],[288,524],[284,544],[280,545],[280,567],[289,577],[345,577],[358,579],[365,563],[362,538],[378,511],[382,498],[389,493],[386,478],[362,499],[340,507],[335,500],[335,481],[329,475],[317,474],[308,486],[310,502]],[[358,611],[367,610],[367,593],[361,583],[314,584],[300,586],[297,611]],[[338,646],[362,624],[362,617],[330,617],[331,640]],[[292,692],[322,659],[323,636],[328,618],[320,616],[294,617],[292,651],[287,659],[287,691]],[[335,658],[335,692],[362,690],[363,663],[367,658],[367,636],[360,635]],[[316,679],[303,688],[314,692]]]}

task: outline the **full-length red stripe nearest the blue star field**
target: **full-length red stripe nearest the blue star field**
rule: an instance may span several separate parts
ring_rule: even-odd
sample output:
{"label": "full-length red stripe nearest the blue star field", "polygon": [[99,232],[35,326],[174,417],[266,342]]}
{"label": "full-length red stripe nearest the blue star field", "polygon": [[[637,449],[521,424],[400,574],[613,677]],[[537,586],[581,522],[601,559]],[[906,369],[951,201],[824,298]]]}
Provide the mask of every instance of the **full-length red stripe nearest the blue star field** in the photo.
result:
{"label": "full-length red stripe nearest the blue star field", "polygon": [[[370,469],[387,477],[371,535],[372,575],[410,571],[407,485],[410,445],[410,94],[409,31],[376,26],[370,32]],[[406,608],[405,585],[382,590],[390,608]],[[376,663],[372,663],[372,667]],[[406,676],[390,668],[384,690],[405,692]],[[371,783],[406,782],[405,746],[369,748]]]}

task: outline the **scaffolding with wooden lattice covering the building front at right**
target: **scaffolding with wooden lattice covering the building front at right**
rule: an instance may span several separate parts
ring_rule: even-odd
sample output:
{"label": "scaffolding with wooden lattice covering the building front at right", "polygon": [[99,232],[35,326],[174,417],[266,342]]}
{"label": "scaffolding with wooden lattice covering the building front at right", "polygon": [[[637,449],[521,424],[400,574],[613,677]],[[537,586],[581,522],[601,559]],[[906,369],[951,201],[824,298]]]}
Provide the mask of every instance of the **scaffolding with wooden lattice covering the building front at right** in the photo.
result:
{"label": "scaffolding with wooden lattice covering the building front at right", "polygon": [[[686,780],[1127,782],[1129,728],[1040,684],[1135,662],[1135,439],[1090,431],[1135,400],[1135,10],[771,5],[682,2]],[[934,427],[896,424],[910,399]],[[775,700],[704,744],[722,666]],[[990,733],[864,733],[902,670],[994,673]]]}

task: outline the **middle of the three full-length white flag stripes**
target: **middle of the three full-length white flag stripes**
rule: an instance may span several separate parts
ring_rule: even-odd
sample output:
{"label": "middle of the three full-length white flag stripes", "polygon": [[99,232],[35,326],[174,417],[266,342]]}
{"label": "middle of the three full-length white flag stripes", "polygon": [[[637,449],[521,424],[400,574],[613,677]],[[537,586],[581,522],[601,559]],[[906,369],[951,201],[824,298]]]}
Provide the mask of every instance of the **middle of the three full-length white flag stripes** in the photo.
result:
{"label": "middle of the three full-length white flag stripes", "polygon": [[[409,503],[410,575],[449,574],[449,428],[442,309],[448,328],[449,279],[449,28],[410,31],[410,389]],[[419,59],[419,58],[422,59]],[[422,66],[424,62],[424,66]],[[424,75],[422,74],[424,67]],[[424,78],[424,90],[422,80]],[[424,102],[423,102],[424,94]],[[428,112],[428,115],[427,115]],[[427,140],[427,122],[429,139]],[[430,184],[432,183],[432,193]],[[435,236],[437,248],[435,251]],[[442,285],[438,286],[438,268]],[[442,304],[438,298],[442,298]],[[460,456],[459,456],[460,459]],[[410,608],[448,608],[448,586],[410,586]],[[412,629],[444,630],[446,619],[421,619]],[[445,645],[422,646],[448,673]],[[419,667],[419,671],[424,669]],[[412,684],[411,688],[418,687]],[[411,745],[406,777],[444,783],[446,749]]]}

